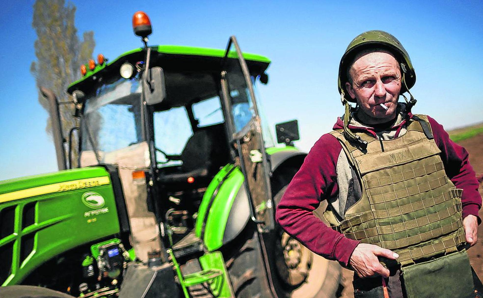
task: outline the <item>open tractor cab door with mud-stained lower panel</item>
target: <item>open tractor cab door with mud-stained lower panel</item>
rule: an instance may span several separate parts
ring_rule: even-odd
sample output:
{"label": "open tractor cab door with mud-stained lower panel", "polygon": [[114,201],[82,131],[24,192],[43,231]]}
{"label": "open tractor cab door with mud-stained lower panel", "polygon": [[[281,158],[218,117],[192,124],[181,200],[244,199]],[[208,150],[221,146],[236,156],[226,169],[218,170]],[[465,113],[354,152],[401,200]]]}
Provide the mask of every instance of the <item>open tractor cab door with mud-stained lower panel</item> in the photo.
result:
{"label": "open tractor cab door with mud-stained lower panel", "polygon": [[252,76],[234,36],[228,41],[221,74],[223,110],[235,164],[245,177],[252,219],[261,231],[274,227],[267,153],[256,107]]}

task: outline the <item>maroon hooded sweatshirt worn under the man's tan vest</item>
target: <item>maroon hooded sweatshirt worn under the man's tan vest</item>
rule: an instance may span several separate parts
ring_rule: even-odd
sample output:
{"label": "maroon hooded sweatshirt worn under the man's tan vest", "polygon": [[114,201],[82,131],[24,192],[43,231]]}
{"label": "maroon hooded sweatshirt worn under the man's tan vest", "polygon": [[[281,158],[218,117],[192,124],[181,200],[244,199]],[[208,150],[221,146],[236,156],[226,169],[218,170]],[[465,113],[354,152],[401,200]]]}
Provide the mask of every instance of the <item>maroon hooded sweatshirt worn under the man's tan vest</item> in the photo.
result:
{"label": "maroon hooded sweatshirt worn under the man's tan vest", "polygon": [[[412,115],[410,114],[410,117]],[[446,175],[455,186],[463,189],[463,218],[472,214],[478,217],[482,198],[478,192],[478,181],[475,172],[468,162],[468,152],[450,140],[442,125],[428,117],[436,145],[441,150],[440,156]],[[406,121],[391,127],[397,135]],[[360,127],[351,129],[361,130]],[[334,129],[343,128],[338,118]],[[370,128],[362,129],[369,135],[376,133]],[[282,228],[314,253],[337,260],[347,266],[355,246],[359,241],[345,238],[340,232],[327,227],[313,215],[322,200],[337,197],[337,162],[342,147],[339,141],[330,134],[325,134],[315,142],[297,174],[288,185],[281,202],[277,207],[276,218]],[[478,223],[481,220],[478,217]]]}

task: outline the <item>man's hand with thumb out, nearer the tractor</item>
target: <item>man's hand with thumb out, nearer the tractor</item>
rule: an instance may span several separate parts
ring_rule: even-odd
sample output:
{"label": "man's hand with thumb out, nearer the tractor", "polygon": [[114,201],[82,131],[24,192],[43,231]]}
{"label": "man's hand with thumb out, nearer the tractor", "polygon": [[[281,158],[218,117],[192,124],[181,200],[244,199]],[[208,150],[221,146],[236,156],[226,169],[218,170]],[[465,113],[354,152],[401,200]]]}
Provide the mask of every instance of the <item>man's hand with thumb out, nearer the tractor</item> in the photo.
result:
{"label": "man's hand with thumb out, nearer the tractor", "polygon": [[359,277],[370,277],[379,274],[389,277],[389,270],[385,269],[377,256],[387,257],[389,259],[397,259],[399,255],[389,249],[382,248],[373,244],[359,243],[352,253],[349,260],[354,271]]}

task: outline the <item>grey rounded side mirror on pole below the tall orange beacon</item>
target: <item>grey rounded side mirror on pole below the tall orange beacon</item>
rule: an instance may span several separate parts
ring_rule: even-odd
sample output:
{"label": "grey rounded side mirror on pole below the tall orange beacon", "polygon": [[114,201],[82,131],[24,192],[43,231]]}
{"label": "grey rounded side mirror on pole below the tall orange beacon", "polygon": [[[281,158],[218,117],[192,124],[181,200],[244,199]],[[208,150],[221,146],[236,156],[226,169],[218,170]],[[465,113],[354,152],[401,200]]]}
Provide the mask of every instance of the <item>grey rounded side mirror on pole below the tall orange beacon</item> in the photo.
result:
{"label": "grey rounded side mirror on pole below the tall orange beacon", "polygon": [[[149,76],[147,71],[149,71]],[[155,105],[164,100],[166,97],[166,84],[164,81],[163,68],[154,67],[144,72],[142,80],[144,100],[146,104]]]}

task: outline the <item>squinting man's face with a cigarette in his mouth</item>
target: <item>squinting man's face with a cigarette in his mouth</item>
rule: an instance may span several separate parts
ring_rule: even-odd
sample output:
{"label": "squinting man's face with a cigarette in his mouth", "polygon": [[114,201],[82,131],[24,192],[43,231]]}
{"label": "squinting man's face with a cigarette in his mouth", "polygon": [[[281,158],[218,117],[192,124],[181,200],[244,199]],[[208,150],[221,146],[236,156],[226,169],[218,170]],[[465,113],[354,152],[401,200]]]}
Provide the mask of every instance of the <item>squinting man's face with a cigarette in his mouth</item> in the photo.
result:
{"label": "squinting man's face with a cigarette in his mouth", "polygon": [[384,123],[396,117],[401,71],[392,54],[384,51],[360,54],[355,57],[349,73],[353,82],[346,82],[345,86],[349,95],[357,100],[360,107],[357,116],[362,122]]}

